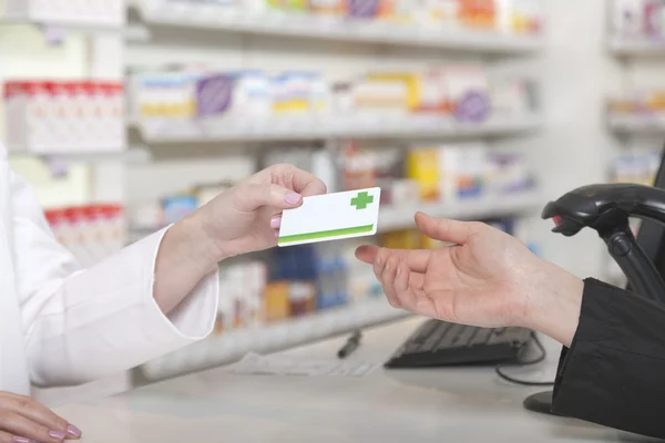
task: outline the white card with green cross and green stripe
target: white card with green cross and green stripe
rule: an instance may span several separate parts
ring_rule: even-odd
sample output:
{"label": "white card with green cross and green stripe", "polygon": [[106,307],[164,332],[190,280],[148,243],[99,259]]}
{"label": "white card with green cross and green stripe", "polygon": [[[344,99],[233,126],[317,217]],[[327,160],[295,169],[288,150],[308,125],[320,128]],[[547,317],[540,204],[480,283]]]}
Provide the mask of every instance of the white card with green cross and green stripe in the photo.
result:
{"label": "white card with green cross and green stripe", "polygon": [[377,233],[381,188],[306,197],[282,215],[280,247],[371,236]]}

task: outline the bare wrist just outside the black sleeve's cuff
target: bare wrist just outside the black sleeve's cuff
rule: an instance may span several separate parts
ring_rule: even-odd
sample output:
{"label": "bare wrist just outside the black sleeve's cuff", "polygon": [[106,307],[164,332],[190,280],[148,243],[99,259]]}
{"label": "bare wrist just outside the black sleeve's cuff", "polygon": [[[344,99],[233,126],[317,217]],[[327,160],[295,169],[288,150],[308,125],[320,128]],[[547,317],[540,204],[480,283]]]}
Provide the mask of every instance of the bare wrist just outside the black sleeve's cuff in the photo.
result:
{"label": "bare wrist just outside the black sleeve's cuff", "polygon": [[584,281],[566,270],[540,260],[532,272],[533,293],[526,295],[530,307],[524,326],[570,347],[580,321]]}

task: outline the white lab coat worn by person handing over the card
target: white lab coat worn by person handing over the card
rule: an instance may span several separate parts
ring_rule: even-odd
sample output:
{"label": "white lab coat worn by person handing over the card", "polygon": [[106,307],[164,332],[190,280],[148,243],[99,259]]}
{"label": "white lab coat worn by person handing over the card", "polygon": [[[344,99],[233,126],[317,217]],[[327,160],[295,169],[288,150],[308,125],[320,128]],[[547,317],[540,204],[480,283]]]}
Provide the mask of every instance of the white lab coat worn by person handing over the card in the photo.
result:
{"label": "white lab coat worn by person handing over the card", "polygon": [[114,374],[206,337],[217,310],[211,276],[168,318],[153,293],[164,230],[81,270],[60,246],[0,144],[0,391]]}

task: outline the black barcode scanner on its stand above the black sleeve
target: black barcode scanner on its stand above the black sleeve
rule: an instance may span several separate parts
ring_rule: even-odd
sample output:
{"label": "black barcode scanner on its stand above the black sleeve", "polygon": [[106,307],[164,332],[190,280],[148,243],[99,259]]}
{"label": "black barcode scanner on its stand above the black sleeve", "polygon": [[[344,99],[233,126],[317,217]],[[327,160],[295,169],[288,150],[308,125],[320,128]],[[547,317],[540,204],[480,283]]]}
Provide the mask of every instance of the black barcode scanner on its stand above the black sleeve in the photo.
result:
{"label": "black barcode scanner on its stand above the black sleeve", "polygon": [[642,185],[591,185],[549,203],[543,218],[554,218],[554,231],[574,236],[595,229],[626,275],[632,289],[665,302],[665,281],[631,231],[628,218],[665,224],[665,190]]}

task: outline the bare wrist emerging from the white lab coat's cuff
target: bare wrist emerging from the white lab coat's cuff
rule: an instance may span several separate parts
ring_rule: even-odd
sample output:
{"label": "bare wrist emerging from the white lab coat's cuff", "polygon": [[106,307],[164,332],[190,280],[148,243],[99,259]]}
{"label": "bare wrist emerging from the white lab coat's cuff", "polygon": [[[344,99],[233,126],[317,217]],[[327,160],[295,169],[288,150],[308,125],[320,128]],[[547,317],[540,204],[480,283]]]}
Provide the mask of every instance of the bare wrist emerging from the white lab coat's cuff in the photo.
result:
{"label": "bare wrist emerging from the white lab coat's cuff", "polygon": [[215,272],[221,259],[196,217],[185,217],[173,225],[162,239],[155,265],[153,295],[162,312],[171,313]]}

